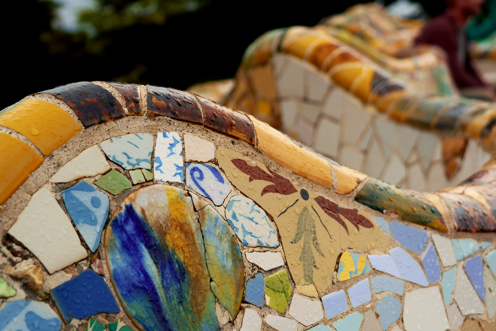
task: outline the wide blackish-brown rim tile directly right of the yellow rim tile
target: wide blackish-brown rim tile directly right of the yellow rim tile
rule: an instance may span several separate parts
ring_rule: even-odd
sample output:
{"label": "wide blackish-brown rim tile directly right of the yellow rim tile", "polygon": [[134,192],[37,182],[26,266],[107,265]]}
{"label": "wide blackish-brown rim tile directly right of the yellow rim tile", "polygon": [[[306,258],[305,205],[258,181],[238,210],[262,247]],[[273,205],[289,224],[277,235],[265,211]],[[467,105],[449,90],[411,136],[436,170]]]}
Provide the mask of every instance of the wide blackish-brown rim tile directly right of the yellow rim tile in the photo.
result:
{"label": "wide blackish-brown rim tile directly right of the yellow rim tile", "polygon": [[67,84],[43,92],[52,94],[69,105],[85,128],[125,116],[122,105],[109,91],[89,81]]}

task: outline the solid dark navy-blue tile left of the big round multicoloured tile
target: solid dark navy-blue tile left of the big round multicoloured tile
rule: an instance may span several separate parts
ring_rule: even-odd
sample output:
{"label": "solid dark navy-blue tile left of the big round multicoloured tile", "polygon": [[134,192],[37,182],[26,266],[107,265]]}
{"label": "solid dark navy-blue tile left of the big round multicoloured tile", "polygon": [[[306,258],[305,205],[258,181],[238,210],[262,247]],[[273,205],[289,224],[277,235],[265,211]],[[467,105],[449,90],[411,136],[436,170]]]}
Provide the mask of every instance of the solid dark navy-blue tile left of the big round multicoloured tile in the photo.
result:
{"label": "solid dark navy-blue tile left of the big round multicoloured tile", "polygon": [[97,313],[119,313],[116,299],[103,279],[88,269],[52,290],[52,297],[66,323]]}

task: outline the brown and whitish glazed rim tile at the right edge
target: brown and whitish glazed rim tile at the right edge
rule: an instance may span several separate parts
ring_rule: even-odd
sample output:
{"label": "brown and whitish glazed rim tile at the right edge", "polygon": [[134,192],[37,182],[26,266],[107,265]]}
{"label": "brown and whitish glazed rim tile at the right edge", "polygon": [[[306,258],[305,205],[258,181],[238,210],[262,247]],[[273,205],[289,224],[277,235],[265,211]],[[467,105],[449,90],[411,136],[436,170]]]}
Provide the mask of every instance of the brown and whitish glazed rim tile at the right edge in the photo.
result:
{"label": "brown and whitish glazed rim tile at the right edge", "polygon": [[461,194],[439,192],[444,198],[454,219],[456,231],[494,232],[496,220],[482,204]]}

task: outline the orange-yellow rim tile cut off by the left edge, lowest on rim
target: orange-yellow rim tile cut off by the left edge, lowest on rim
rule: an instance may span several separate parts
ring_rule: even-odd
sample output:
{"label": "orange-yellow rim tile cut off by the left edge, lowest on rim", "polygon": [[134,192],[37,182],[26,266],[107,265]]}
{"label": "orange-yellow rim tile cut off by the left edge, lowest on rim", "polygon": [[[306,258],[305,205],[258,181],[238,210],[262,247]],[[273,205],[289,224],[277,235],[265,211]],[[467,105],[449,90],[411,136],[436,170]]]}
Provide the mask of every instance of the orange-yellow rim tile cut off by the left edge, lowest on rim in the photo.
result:
{"label": "orange-yellow rim tile cut off by the left edge, lowest on rim", "polygon": [[0,155],[0,204],[3,204],[38,169],[43,157],[33,147],[3,132],[0,132]]}

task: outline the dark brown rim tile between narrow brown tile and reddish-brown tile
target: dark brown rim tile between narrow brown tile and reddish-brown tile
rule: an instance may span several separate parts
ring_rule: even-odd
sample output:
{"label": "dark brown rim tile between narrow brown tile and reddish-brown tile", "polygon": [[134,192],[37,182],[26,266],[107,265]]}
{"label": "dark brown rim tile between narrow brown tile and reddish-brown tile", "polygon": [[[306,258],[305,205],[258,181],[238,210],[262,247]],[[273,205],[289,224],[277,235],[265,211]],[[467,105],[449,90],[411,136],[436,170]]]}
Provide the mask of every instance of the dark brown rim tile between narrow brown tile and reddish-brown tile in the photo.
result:
{"label": "dark brown rim tile between narrow brown tile and reddish-brown tile", "polygon": [[148,113],[151,116],[167,116],[196,124],[203,124],[201,110],[194,96],[173,88],[147,86]]}

